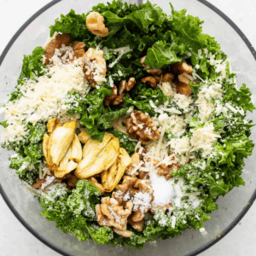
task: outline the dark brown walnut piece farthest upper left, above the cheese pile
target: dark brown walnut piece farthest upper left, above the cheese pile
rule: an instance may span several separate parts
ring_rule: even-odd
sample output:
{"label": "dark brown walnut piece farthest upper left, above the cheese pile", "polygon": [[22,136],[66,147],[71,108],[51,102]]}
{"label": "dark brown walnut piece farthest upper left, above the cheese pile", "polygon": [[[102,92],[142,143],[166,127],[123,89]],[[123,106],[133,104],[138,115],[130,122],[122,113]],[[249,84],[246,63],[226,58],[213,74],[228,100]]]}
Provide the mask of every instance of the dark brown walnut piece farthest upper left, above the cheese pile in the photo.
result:
{"label": "dark brown walnut piece farthest upper left, above the cheese pile", "polygon": [[72,37],[69,34],[57,34],[45,47],[45,65],[49,64],[49,59],[55,54],[55,49],[60,49],[63,44],[67,46],[71,41]]}

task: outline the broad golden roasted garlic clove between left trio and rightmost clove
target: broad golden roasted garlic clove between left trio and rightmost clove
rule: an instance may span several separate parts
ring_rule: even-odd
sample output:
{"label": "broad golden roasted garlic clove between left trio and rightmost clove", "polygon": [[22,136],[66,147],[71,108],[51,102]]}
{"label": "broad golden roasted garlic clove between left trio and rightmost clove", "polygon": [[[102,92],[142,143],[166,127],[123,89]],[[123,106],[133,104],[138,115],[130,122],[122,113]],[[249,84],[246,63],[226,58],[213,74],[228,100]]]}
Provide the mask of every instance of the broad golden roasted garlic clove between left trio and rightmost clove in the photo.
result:
{"label": "broad golden roasted garlic clove between left trio and rightmost clove", "polygon": [[[106,138],[110,137],[112,139],[108,140],[106,143]],[[105,139],[105,146],[102,147],[102,143]],[[103,170],[108,170],[110,166],[113,165],[115,160],[119,155],[119,139],[113,137],[113,135],[105,134],[102,143],[94,143],[95,141],[89,141],[88,143],[93,143],[96,148],[91,147],[91,153],[86,154],[85,158],[79,162],[79,166],[75,171],[75,175],[79,178],[87,178],[97,173],[102,172]],[[86,143],[87,144],[87,143]],[[85,144],[85,147],[86,147]],[[88,155],[90,155],[88,157]],[[92,156],[92,158],[90,158]],[[90,164],[88,164],[90,162]]]}

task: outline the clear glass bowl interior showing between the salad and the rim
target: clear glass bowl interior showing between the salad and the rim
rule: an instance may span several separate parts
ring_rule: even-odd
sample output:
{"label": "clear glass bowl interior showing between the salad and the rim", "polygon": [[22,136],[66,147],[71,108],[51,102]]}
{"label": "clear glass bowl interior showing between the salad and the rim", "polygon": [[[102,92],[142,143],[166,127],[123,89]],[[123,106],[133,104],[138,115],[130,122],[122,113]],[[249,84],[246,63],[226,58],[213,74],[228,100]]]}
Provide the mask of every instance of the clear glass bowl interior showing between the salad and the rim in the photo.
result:
{"label": "clear glass bowl interior showing between the salad and the rim", "polygon": [[[129,2],[129,1],[128,1]],[[134,1],[130,1],[134,2]],[[140,2],[140,1],[138,1]],[[167,14],[171,14],[169,1],[151,0],[157,3]],[[77,13],[87,12],[97,3],[107,3],[106,0],[55,0],[40,9],[16,32],[0,57],[0,103],[3,105],[7,95],[14,90],[16,80],[20,74],[23,55],[32,53],[32,49],[43,45],[49,35],[49,26],[62,13],[67,14],[70,9]],[[223,13],[207,1],[172,0],[175,9],[188,9],[189,15],[199,16],[205,20],[204,32],[214,36],[224,52],[232,62],[233,70],[237,73],[237,84],[246,83],[255,96],[256,90],[256,54],[244,34]],[[256,122],[255,116],[248,113],[247,117]],[[3,119],[3,116],[1,117]],[[256,139],[253,129],[251,139]],[[205,225],[207,234],[202,235],[198,230],[186,230],[182,236],[166,241],[158,240],[154,244],[147,243],[143,252],[134,248],[116,248],[99,246],[92,241],[78,241],[76,237],[62,233],[55,228],[55,224],[46,221],[39,215],[41,207],[38,199],[34,198],[26,186],[20,182],[13,170],[9,169],[10,152],[0,148],[2,160],[0,172],[0,192],[10,210],[20,222],[44,244],[63,255],[196,255],[211,247],[224,237],[241,220],[256,197],[256,172],[253,172],[256,150],[246,160],[242,177],[246,185],[232,189],[228,195],[218,198],[218,210],[212,212],[212,219]]]}

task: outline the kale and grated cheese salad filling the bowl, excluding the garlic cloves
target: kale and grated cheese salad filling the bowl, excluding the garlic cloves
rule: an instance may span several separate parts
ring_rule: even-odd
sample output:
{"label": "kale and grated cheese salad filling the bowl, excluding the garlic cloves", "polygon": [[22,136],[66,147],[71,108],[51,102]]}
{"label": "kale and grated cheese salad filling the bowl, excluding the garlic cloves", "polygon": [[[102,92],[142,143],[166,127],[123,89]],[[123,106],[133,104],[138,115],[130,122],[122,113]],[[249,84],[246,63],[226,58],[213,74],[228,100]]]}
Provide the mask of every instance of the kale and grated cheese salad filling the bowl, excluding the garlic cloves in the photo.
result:
{"label": "kale and grated cheese salad filling the bowl, excluding the garlic cloves", "polygon": [[[99,3],[87,14],[72,9],[61,15],[49,27],[47,44],[58,34],[68,34],[71,42],[55,47],[50,58],[47,44],[25,55],[15,91],[3,105],[2,147],[15,151],[9,167],[37,192],[44,208],[40,214],[79,241],[142,249],[147,241],[179,236],[190,228],[200,230],[210,219],[208,213],[218,209],[218,196],[245,185],[243,160],[254,146],[249,139],[253,124],[245,119],[247,111],[255,109],[252,94],[246,84],[236,86],[227,55],[202,32],[203,21],[170,6],[172,15],[166,15],[150,2],[137,6],[113,0]],[[86,26],[91,12],[102,15],[107,36],[97,36]],[[95,83],[86,73],[84,79],[81,56],[71,61],[75,42],[84,43],[85,52],[95,49],[103,55],[103,79],[96,58],[89,58],[90,64],[85,61]],[[173,78],[164,79],[166,73]],[[127,84],[131,78],[136,81],[131,90],[114,90],[113,84],[120,88],[122,80]],[[120,96],[119,103],[113,104],[109,96]],[[153,122],[152,130],[143,128],[148,123],[136,124],[136,114]],[[146,136],[145,142],[145,136],[126,131],[130,116],[133,127],[156,139]],[[139,154],[137,165],[130,165],[133,170],[124,172],[146,181],[141,186],[151,186],[151,192],[140,185],[133,195],[126,189],[122,201],[130,200],[133,207],[119,207],[129,214],[141,211],[143,219],[128,218],[127,224],[127,217],[116,216],[112,207],[101,222],[96,209],[103,204],[102,198],[114,193],[114,203],[119,201],[118,187],[104,194],[95,185],[101,183],[99,176],[94,180],[76,177],[72,185],[73,172],[53,175],[45,160],[43,138],[47,131],[50,136],[46,125],[54,118],[61,124],[75,120],[77,134],[86,131],[97,143],[104,143],[108,132],[130,156]],[[159,168],[167,168],[164,175],[169,176],[160,176]],[[125,177],[119,179],[119,188],[123,182]],[[125,228],[120,228],[120,219],[125,219]],[[136,223],[143,228],[136,228]]]}

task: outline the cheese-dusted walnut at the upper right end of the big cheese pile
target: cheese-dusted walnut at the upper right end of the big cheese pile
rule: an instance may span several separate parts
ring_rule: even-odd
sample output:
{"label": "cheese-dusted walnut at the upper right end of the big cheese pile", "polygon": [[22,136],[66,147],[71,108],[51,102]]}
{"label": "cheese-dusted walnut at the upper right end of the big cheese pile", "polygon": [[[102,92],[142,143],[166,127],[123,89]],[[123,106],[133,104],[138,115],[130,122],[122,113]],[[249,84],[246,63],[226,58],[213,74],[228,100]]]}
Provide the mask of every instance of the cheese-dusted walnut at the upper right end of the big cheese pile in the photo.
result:
{"label": "cheese-dusted walnut at the upper right end of the big cheese pile", "polygon": [[84,78],[90,82],[91,86],[95,87],[96,84],[102,84],[107,73],[103,51],[89,48],[85,52],[82,62]]}

